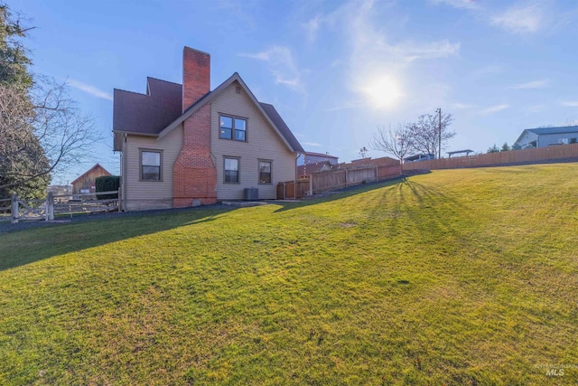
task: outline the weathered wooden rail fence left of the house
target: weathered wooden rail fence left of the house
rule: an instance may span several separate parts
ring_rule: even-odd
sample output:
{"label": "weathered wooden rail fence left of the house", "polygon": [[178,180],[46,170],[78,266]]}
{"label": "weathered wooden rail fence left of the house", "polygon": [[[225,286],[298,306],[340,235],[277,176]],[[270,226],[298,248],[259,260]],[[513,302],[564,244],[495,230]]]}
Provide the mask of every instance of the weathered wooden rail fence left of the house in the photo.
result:
{"label": "weathered wooden rail fence left of the house", "polygon": [[[103,198],[102,195],[107,195]],[[100,196],[100,197],[98,197]],[[10,206],[5,202],[10,201]],[[48,193],[46,199],[23,200],[13,195],[12,199],[0,200],[1,221],[52,221],[55,216],[70,215],[92,212],[120,212],[119,192],[98,192],[75,194],[72,199],[70,194],[53,195]],[[9,212],[9,213],[8,213]]]}

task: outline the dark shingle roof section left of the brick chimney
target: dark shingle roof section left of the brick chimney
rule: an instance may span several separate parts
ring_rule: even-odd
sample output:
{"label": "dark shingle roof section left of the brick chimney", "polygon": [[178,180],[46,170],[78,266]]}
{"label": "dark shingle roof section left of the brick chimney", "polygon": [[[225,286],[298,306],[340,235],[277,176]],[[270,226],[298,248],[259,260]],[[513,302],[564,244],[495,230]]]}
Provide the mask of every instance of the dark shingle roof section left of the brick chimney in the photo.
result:
{"label": "dark shingle roof section left of the brick chimney", "polygon": [[146,79],[146,94],[115,89],[113,129],[157,134],[182,113],[182,85]]}

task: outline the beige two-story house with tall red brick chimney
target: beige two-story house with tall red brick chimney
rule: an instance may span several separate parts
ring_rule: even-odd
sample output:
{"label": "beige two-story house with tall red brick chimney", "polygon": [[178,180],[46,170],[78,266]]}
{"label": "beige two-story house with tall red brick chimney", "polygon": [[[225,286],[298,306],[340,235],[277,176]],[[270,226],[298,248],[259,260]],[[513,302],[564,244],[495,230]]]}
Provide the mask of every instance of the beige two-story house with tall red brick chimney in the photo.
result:
{"label": "beige two-story house with tall red brick chimney", "polygon": [[210,54],[185,47],[182,84],[147,78],[146,93],[115,89],[114,149],[126,210],[275,199],[303,147],[235,72],[210,90]]}

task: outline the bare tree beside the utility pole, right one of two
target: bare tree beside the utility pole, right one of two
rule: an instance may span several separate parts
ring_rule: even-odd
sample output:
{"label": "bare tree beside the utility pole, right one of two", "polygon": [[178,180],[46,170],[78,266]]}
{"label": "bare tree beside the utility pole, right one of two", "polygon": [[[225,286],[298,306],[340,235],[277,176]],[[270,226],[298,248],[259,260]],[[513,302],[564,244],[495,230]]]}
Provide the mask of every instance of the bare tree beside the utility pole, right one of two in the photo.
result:
{"label": "bare tree beside the utility pole, right one of two", "polygon": [[452,122],[453,117],[449,113],[441,114],[441,119],[437,114],[421,115],[417,122],[408,124],[413,139],[413,149],[418,153],[431,154],[439,158],[440,132],[442,147],[455,137],[455,131],[449,129]]}

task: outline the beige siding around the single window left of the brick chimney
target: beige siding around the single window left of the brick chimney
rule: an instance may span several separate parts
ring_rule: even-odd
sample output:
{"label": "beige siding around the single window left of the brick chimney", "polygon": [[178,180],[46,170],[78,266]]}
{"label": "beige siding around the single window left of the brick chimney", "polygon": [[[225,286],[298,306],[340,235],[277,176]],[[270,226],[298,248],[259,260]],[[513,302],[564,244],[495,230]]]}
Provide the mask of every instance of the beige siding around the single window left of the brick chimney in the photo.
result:
{"label": "beige siding around the single window left of the brick chimney", "polygon": [[[127,210],[172,207],[172,165],[181,152],[182,127],[176,127],[166,137],[129,135],[124,146],[125,202]],[[162,150],[161,178],[163,181],[140,181],[139,149]]]}

